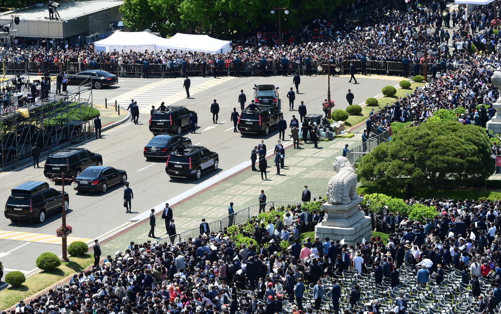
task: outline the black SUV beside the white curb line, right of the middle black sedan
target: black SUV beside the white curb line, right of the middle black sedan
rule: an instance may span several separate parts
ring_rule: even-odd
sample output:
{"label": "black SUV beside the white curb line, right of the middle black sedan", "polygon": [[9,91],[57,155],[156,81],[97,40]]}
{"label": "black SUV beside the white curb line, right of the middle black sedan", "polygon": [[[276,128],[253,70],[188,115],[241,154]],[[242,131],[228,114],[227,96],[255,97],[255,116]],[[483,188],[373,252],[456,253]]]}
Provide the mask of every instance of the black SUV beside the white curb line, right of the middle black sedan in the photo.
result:
{"label": "black SUV beside the white curb line, right of the middle black sedan", "polygon": [[172,177],[187,178],[194,175],[200,179],[202,172],[217,170],[219,155],[204,146],[187,145],[183,150],[177,150],[167,158],[165,172]]}

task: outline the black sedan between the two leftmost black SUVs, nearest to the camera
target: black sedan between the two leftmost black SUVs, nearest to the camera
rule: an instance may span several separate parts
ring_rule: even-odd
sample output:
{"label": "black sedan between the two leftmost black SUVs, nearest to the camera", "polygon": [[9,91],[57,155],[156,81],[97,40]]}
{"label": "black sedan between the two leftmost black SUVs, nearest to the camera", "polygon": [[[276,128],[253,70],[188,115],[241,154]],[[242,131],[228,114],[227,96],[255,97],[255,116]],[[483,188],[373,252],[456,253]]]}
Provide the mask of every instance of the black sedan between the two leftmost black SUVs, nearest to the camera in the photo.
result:
{"label": "black sedan between the two leftmost black SUVs, nearest to the camera", "polygon": [[101,191],[106,192],[108,187],[127,182],[127,172],[113,167],[93,166],[86,168],[78,177],[77,191]]}

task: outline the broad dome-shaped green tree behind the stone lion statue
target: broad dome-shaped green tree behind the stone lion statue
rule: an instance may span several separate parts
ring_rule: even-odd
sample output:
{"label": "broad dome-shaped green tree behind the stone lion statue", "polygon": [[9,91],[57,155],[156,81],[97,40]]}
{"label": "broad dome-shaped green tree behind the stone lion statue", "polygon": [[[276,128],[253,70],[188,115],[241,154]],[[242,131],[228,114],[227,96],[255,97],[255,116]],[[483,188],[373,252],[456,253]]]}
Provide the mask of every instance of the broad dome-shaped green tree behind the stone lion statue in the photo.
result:
{"label": "broad dome-shaped green tree behind the stone lion statue", "polygon": [[356,170],[366,186],[444,188],[482,184],[492,172],[484,129],[454,121],[400,130],[364,156]]}

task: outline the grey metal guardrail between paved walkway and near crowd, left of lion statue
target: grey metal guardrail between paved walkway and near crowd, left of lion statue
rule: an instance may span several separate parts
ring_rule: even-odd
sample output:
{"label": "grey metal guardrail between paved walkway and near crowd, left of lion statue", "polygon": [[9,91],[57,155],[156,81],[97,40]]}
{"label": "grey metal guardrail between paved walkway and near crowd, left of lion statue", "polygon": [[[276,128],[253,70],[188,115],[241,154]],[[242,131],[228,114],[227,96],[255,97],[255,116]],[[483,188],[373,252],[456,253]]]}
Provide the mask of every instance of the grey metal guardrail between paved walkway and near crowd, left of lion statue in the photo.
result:
{"label": "grey metal guardrail between paved walkway and near crowd, left of lion statue", "polygon": [[[262,212],[270,211],[272,208],[278,209],[282,206],[287,207],[287,205],[297,205],[302,204],[301,201],[271,201],[263,204],[256,204],[249,207],[246,207],[242,210],[235,212],[233,215],[228,215],[220,220],[215,220],[209,222],[209,230],[223,232],[228,227],[232,225],[239,225],[246,222],[248,219],[252,217],[257,217]],[[178,234],[167,236],[165,238],[161,238],[158,243],[177,243],[181,241],[186,241],[188,238],[194,239],[200,235],[200,228],[196,227],[193,229],[189,229],[186,231],[182,231]]]}

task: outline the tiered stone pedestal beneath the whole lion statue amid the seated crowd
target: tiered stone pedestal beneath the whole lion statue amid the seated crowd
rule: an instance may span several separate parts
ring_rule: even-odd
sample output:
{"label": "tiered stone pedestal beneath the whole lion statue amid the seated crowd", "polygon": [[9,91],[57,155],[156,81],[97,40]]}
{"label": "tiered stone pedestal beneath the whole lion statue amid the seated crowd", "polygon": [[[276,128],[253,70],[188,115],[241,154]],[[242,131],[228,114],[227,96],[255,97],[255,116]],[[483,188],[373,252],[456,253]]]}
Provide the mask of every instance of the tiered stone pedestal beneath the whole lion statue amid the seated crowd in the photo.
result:
{"label": "tiered stone pedestal beneath the whole lion statue amid the seated crowd", "polygon": [[324,239],[326,236],[331,240],[345,239],[345,243],[367,241],[372,236],[371,218],[366,217],[358,210],[358,204],[363,201],[362,197],[354,199],[346,205],[328,204],[322,205],[327,212],[327,218],[315,226],[315,236]]}

